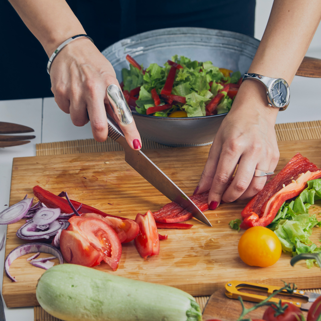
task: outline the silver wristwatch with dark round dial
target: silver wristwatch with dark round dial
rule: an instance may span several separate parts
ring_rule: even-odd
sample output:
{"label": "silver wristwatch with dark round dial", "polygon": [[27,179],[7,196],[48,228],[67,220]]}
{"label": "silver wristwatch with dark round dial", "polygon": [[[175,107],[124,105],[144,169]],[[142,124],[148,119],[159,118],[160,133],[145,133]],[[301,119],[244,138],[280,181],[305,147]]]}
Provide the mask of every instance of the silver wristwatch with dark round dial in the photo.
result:
{"label": "silver wristwatch with dark round dial", "polygon": [[244,74],[243,80],[254,79],[262,82],[266,88],[268,105],[285,110],[290,102],[290,88],[282,78],[270,78],[258,74]]}

